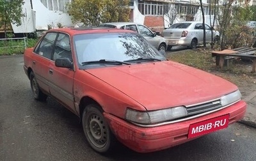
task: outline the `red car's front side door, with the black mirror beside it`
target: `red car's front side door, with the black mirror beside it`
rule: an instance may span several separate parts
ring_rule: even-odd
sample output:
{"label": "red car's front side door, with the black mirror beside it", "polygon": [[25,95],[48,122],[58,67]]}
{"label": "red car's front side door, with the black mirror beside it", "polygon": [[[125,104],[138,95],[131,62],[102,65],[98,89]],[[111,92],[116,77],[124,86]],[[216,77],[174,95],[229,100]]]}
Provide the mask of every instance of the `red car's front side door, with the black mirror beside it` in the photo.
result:
{"label": "red car's front side door, with the black mirror beside it", "polygon": [[54,44],[52,61],[49,65],[49,88],[51,95],[57,98],[61,103],[66,105],[70,111],[75,112],[74,109],[74,67],[60,68],[55,66],[55,60],[61,57],[67,57],[73,61],[70,36],[65,33],[59,33],[56,43]]}

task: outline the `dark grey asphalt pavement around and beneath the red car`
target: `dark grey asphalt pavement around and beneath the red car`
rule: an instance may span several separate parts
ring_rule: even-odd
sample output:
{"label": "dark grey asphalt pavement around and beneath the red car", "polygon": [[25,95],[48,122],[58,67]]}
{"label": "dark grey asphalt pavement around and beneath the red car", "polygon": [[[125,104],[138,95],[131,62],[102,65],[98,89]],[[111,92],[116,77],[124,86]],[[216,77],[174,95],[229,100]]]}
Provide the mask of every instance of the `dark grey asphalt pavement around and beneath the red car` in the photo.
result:
{"label": "dark grey asphalt pavement around and beneath the red car", "polygon": [[[52,98],[31,96],[22,56],[0,56],[0,160],[252,160],[256,128],[234,123],[185,144],[154,153],[136,153],[120,146],[112,156],[93,151],[77,117]],[[255,93],[244,100],[255,112]],[[254,115],[256,116],[256,115]],[[250,116],[252,120],[252,116]],[[244,121],[249,123],[252,121]],[[250,124],[252,126],[252,124]]]}

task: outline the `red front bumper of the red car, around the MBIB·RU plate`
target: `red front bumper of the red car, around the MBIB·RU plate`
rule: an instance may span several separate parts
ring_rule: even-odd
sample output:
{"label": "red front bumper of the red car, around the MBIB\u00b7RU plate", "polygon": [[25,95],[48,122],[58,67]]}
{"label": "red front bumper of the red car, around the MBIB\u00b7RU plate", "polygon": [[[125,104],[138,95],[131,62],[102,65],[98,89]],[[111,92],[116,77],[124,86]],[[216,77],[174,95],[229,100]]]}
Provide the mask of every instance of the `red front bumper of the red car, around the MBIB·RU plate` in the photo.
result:
{"label": "red front bumper of the red car, around the MBIB\u00b7RU plate", "polygon": [[242,119],[245,111],[246,103],[239,101],[230,107],[199,118],[150,128],[138,127],[108,113],[104,113],[104,116],[108,120],[109,127],[116,139],[131,150],[148,153],[191,141],[194,138],[188,139],[188,131],[189,125],[193,123],[230,114],[229,124],[231,124]]}

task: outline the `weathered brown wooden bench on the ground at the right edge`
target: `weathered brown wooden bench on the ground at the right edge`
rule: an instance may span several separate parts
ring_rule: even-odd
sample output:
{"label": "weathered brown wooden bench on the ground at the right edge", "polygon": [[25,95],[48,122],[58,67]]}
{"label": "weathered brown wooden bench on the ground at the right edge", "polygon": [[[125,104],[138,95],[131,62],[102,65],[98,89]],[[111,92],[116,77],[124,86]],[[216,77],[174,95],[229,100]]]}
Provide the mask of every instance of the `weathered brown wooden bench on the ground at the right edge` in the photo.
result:
{"label": "weathered brown wooden bench on the ground at the right edge", "polygon": [[216,65],[220,66],[220,68],[223,68],[226,57],[250,58],[253,61],[252,73],[256,72],[256,55],[238,54],[238,52],[234,50],[222,50],[222,51],[213,51],[212,57],[216,58]]}

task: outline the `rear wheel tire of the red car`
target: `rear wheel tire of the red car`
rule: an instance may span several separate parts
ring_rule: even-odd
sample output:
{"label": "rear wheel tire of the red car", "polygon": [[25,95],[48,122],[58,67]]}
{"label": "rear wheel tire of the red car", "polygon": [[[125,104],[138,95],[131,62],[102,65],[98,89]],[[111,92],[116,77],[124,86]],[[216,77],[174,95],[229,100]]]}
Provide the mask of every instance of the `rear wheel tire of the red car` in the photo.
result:
{"label": "rear wheel tire of the red car", "polygon": [[38,100],[38,101],[43,101],[43,102],[46,101],[47,95],[42,93],[42,91],[36,81],[35,74],[33,72],[30,73],[29,79],[30,79],[30,86],[32,89],[33,98],[35,98],[35,100]]}

